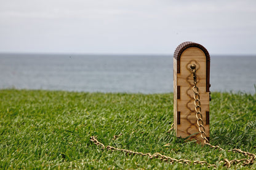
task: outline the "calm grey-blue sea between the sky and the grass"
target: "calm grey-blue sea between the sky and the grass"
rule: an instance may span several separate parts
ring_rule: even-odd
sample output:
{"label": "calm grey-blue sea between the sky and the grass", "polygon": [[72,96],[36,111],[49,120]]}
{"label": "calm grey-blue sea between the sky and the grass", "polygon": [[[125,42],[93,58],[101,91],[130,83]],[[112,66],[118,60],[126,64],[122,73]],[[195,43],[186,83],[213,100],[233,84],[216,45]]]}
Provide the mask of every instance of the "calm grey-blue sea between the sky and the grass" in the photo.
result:
{"label": "calm grey-blue sea between the sky and the grass", "polygon": [[[210,91],[255,93],[256,56],[211,56]],[[0,54],[0,88],[173,91],[173,56]]]}

